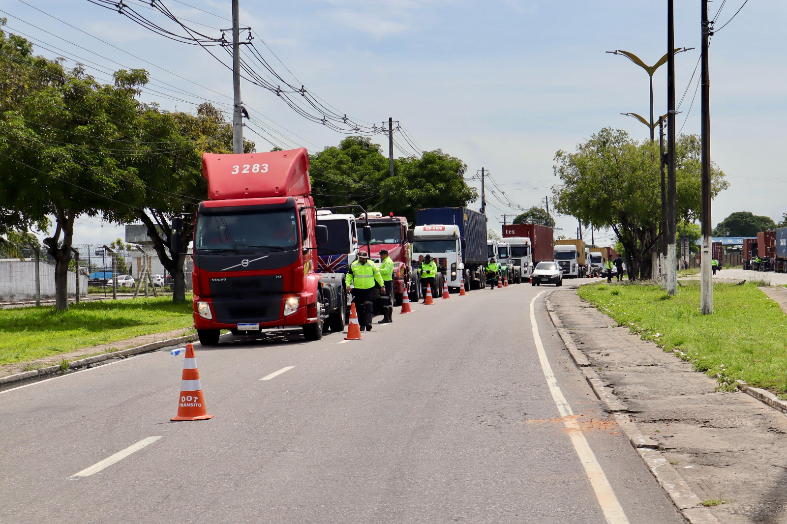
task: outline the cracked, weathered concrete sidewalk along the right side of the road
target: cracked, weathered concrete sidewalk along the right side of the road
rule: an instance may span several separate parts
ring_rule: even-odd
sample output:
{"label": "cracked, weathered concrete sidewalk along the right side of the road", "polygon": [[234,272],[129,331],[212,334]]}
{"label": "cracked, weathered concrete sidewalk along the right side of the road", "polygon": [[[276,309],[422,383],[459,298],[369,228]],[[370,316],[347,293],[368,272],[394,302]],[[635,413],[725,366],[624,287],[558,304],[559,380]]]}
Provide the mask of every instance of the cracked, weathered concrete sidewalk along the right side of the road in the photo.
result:
{"label": "cracked, weathered concrete sidewalk along the right side of the road", "polygon": [[711,507],[719,522],[787,522],[784,415],[745,393],[716,392],[713,379],[615,327],[576,290],[558,290],[549,300],[598,375],[628,405],[631,419],[700,500],[727,501]]}

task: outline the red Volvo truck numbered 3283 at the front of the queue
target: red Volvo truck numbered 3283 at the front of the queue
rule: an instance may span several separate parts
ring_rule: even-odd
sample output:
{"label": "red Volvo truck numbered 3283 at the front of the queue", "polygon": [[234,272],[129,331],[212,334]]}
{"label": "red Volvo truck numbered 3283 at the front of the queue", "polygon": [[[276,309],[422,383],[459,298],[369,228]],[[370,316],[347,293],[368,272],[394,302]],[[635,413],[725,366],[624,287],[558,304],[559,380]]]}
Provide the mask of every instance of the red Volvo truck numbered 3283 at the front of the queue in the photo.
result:
{"label": "red Volvo truck numbered 3283 at the front of the queue", "polygon": [[[194,231],[194,327],[203,345],[220,330],[302,327],[308,340],[342,319],[341,279],[315,272],[327,243],[310,196],[306,149],[202,155],[209,200]],[[335,318],[331,318],[335,317]]]}

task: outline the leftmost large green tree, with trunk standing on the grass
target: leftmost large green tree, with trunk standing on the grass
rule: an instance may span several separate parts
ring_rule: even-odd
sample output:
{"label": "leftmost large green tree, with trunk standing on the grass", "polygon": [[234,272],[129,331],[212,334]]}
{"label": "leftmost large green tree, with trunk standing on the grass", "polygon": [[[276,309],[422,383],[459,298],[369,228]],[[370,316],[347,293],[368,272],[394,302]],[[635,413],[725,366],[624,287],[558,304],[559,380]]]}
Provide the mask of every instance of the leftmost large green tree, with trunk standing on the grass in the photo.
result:
{"label": "leftmost large green tree, with trunk standing on the grass", "polygon": [[[55,230],[44,240],[55,260],[55,306],[68,308],[68,264],[74,220],[124,207],[125,189],[135,173],[123,165],[127,133],[134,120],[140,73],[134,83],[104,85],[77,66],[31,57],[29,42],[5,39],[14,54],[0,55],[4,83],[20,93],[6,99],[0,118],[3,205],[54,216]],[[2,44],[0,44],[2,45]],[[6,65],[16,67],[9,73]],[[17,75],[6,78],[5,75]],[[35,77],[32,84],[24,78]],[[7,90],[7,87],[6,87]],[[133,183],[133,182],[132,182]]]}

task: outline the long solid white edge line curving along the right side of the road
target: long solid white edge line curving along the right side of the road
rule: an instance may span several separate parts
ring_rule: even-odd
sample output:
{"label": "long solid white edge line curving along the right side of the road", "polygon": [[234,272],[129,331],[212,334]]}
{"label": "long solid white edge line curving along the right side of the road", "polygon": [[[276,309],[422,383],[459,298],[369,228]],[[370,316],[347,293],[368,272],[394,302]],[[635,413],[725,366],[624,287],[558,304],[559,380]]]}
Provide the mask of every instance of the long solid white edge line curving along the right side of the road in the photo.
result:
{"label": "long solid white edge line curving along the right side of the road", "polygon": [[571,406],[568,404],[566,397],[563,397],[563,391],[557,383],[555,375],[552,373],[552,366],[549,365],[549,360],[544,351],[544,345],[541,343],[541,336],[538,334],[538,324],[536,323],[535,303],[538,297],[541,297],[545,291],[541,291],[533,300],[530,301],[530,326],[533,327],[533,339],[538,351],[538,360],[541,361],[541,370],[544,371],[544,377],[549,385],[549,392],[552,393],[552,400],[555,401],[560,417],[563,419],[563,425],[566,426],[568,435],[571,437],[571,444],[582,462],[582,467],[585,468],[585,473],[588,476],[590,485],[593,486],[593,491],[596,493],[596,499],[604,512],[604,518],[607,519],[609,524],[629,524],[629,519],[623,512],[623,507],[620,507],[618,497],[615,496],[615,491],[607,480],[607,475],[601,469],[596,456],[593,454],[593,449],[590,448],[585,435],[579,429],[579,425],[574,417],[574,411],[571,411]]}

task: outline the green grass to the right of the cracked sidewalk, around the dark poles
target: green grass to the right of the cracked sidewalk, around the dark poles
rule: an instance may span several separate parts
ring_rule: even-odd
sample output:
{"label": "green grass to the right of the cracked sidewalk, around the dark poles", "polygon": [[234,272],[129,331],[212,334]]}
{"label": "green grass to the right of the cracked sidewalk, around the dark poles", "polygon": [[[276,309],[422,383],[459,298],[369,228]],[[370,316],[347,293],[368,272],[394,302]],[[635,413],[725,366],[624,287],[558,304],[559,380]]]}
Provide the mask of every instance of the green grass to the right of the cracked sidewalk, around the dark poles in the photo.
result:
{"label": "green grass to the right of the cracked sidewalk, around the dark poles", "polygon": [[716,378],[720,390],[735,389],[741,379],[787,393],[787,316],[754,283],[715,284],[708,316],[700,314],[698,284],[684,284],[675,297],[650,285],[586,285],[579,296]]}

